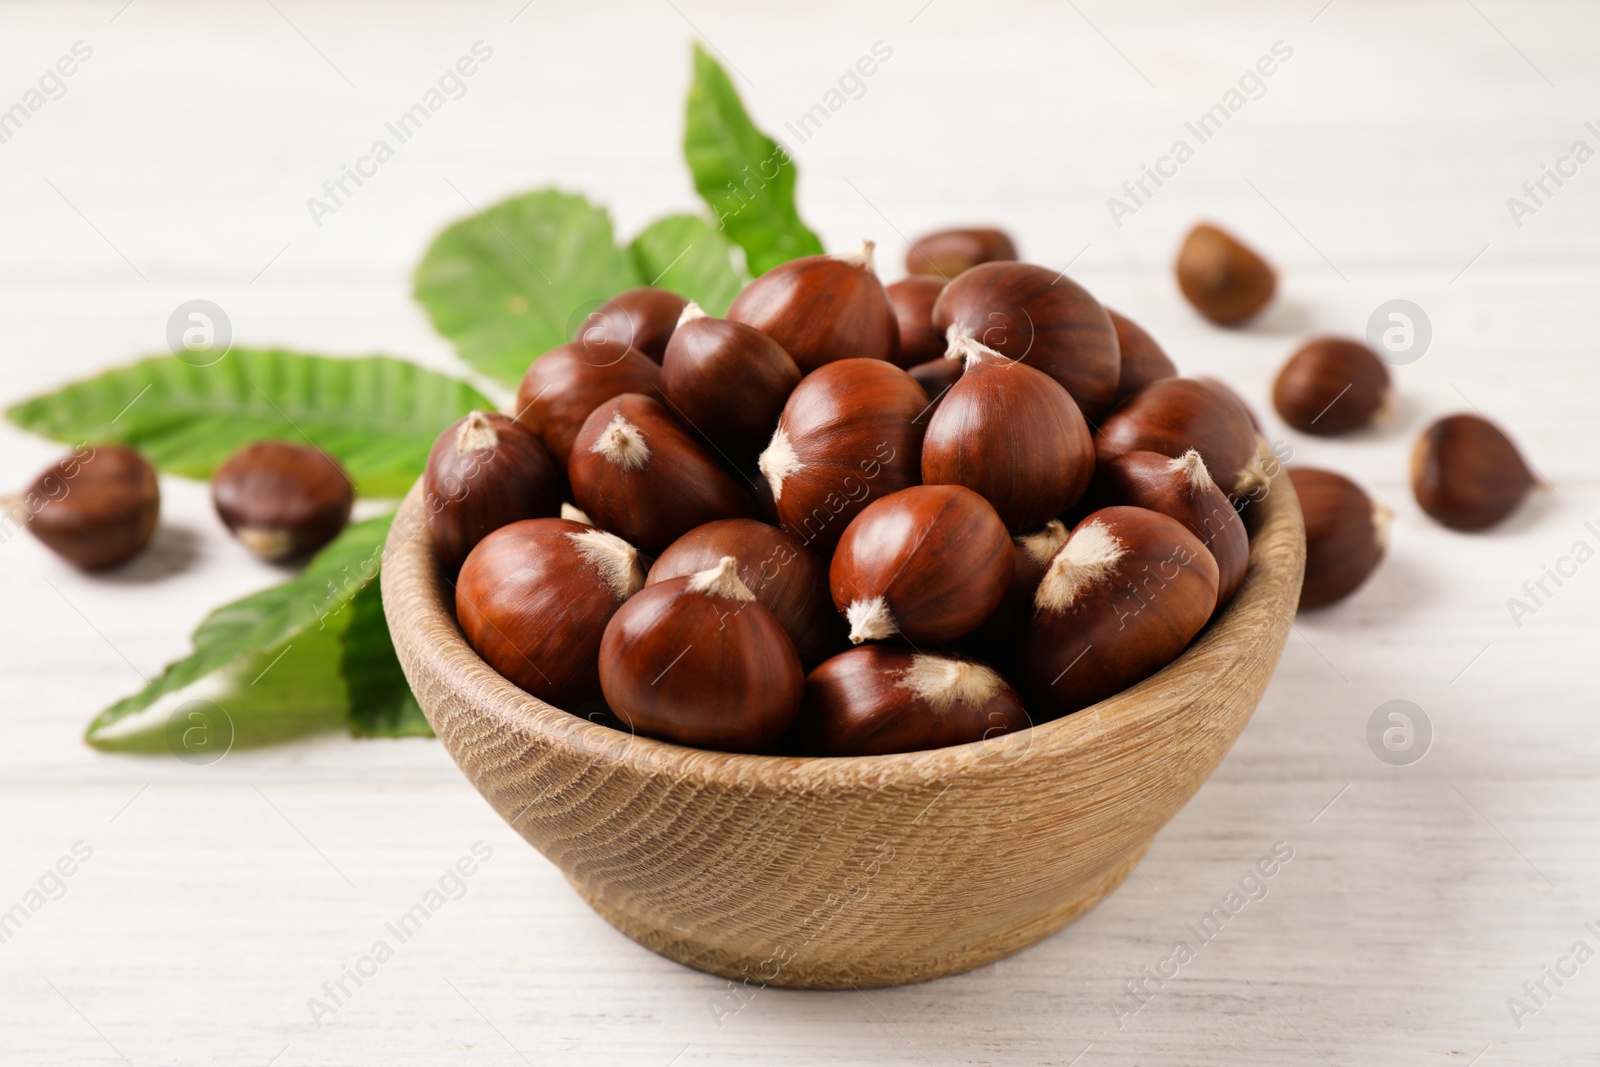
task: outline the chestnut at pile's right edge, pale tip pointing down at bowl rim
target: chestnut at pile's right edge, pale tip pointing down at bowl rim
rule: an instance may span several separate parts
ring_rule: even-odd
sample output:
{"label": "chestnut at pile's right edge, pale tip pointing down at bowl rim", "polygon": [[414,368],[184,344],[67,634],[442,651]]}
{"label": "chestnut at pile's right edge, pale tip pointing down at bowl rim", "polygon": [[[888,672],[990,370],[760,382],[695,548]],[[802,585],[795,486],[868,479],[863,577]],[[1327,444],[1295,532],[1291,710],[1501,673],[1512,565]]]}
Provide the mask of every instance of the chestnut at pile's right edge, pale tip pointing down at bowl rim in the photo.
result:
{"label": "chestnut at pile's right edge, pale tip pointing down at bowl rim", "polygon": [[1146,386],[1094,435],[1099,462],[1136,451],[1178,459],[1190,448],[1229,496],[1250,496],[1267,482],[1250,413],[1197,378],[1163,378]]}

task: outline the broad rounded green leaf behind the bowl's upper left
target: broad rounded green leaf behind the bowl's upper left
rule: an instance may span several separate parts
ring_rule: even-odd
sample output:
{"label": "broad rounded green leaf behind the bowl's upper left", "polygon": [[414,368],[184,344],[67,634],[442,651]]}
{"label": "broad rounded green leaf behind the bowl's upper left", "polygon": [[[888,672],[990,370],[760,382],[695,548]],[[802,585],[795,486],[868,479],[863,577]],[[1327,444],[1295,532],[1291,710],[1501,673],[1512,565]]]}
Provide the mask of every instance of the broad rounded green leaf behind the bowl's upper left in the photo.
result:
{"label": "broad rounded green leaf behind the bowl's upper left", "polygon": [[456,222],[416,269],[416,298],[472,366],[515,386],[584,315],[642,285],[611,216],[554,189]]}

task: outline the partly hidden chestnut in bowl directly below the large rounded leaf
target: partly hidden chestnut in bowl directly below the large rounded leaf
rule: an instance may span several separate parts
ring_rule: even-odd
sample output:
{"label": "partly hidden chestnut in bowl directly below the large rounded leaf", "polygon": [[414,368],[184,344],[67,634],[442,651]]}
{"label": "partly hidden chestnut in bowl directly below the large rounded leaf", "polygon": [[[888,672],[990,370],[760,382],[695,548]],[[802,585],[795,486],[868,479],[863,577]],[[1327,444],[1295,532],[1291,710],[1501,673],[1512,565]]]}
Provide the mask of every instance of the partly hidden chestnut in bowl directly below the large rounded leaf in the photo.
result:
{"label": "partly hidden chestnut in bowl directly below the large rounded leaf", "polygon": [[626,392],[656,394],[661,366],[621,341],[586,339],[550,349],[517,386],[517,421],[539,435],[563,469],[589,413]]}

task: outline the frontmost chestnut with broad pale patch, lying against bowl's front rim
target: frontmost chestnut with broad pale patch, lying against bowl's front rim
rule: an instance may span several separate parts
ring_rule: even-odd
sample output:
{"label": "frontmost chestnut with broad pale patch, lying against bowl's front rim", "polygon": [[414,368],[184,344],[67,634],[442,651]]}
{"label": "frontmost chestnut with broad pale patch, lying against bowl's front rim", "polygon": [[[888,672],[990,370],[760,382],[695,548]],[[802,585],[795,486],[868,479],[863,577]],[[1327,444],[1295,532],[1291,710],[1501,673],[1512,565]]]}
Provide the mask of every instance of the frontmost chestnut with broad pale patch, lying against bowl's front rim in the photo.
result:
{"label": "frontmost chestnut with broad pale patch, lying against bowl's front rim", "polygon": [[794,734],[813,755],[883,755],[970,744],[1029,726],[1022,697],[992,667],[866,645],[806,677]]}

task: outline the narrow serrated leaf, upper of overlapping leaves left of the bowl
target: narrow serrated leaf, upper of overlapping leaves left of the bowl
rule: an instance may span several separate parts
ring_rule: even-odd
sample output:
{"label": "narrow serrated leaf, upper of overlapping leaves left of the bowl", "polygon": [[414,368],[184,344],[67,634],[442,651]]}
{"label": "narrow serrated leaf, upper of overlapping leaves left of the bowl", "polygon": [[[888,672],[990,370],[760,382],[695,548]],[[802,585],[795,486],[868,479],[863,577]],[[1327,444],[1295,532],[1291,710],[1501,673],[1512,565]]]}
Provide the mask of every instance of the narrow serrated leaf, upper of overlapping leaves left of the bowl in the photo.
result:
{"label": "narrow serrated leaf, upper of overlapping leaves left of the bowl", "polygon": [[293,672],[298,638],[349,625],[346,608],[378,576],[392,518],[382,515],[347,526],[294,579],[213,611],[194,633],[194,651],[96,715],[85,739],[96,744],[107,726],[253,656],[277,656],[266,673]]}

